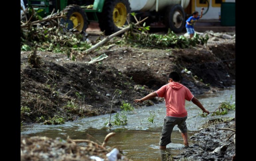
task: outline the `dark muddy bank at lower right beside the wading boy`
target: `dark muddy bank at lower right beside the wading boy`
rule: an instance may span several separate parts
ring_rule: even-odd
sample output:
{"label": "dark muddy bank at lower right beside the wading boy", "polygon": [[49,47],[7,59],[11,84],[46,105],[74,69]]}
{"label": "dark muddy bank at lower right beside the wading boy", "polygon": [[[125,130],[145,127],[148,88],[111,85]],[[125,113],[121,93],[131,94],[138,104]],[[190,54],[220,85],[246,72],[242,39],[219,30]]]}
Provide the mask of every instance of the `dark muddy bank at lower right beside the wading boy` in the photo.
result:
{"label": "dark muddy bank at lower right beside the wading boy", "polygon": [[[186,149],[179,155],[173,156],[174,160],[212,160],[224,161],[232,160],[235,154],[234,132],[230,130],[221,130],[219,128],[235,129],[235,121],[226,121],[222,123],[211,124],[200,130],[200,132],[190,137],[196,143],[191,144],[190,148]],[[230,135],[232,135],[230,137]],[[230,137],[230,138],[229,138]],[[213,152],[217,147],[224,144],[229,144],[227,148],[223,148],[219,153]],[[169,158],[170,159],[170,158]]]}

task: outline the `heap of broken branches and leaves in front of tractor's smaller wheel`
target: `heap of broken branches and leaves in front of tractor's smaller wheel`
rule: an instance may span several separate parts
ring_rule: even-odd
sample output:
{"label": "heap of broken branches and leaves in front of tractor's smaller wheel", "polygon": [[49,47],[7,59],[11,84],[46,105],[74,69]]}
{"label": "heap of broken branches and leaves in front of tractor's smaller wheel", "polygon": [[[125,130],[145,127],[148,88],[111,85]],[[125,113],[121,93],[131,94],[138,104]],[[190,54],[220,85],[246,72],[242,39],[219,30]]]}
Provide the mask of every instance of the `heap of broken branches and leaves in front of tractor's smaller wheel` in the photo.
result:
{"label": "heap of broken branches and leaves in front of tractor's smaller wheel", "polygon": [[23,17],[30,15],[30,18],[21,20],[21,50],[29,51],[34,46],[38,46],[40,51],[70,55],[70,52],[80,52],[91,47],[86,33],[78,32],[76,29],[67,30],[61,23],[62,18],[65,17],[62,11],[52,13],[45,18],[40,17],[38,12],[33,8],[26,8],[23,12]]}

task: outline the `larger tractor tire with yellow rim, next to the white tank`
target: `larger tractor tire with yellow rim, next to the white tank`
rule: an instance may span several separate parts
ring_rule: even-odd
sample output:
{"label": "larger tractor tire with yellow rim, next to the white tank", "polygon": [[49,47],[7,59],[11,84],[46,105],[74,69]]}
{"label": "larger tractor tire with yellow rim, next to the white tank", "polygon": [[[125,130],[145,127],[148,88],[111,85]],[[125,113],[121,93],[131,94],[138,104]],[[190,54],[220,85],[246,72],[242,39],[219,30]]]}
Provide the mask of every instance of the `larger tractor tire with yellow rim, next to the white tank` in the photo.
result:
{"label": "larger tractor tire with yellow rim, next to the white tank", "polygon": [[[127,24],[131,11],[128,0],[105,0],[102,13],[99,14],[99,27],[105,35],[111,35]],[[129,15],[128,15],[129,14]]]}

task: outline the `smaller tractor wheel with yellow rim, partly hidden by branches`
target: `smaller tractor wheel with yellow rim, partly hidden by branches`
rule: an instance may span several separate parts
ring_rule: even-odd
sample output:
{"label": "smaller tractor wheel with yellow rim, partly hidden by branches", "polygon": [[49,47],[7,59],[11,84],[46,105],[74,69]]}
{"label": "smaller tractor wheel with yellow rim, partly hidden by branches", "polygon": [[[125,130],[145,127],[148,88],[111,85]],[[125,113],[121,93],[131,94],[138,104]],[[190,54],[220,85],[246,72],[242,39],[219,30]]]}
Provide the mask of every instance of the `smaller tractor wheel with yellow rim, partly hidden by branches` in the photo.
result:
{"label": "smaller tractor wheel with yellow rim, partly hidden by branches", "polygon": [[66,18],[62,19],[62,23],[67,23],[67,30],[75,28],[78,31],[85,31],[88,28],[88,20],[86,13],[78,5],[69,5],[64,8]]}

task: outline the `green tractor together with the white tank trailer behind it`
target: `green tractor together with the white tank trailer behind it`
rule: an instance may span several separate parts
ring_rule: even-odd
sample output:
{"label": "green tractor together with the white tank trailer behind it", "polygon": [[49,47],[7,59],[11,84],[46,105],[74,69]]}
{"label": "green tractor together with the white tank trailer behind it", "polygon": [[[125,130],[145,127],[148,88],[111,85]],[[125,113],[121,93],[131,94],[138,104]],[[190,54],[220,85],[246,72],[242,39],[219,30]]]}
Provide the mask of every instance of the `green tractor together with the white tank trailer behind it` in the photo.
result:
{"label": "green tractor together with the white tank trailer behind it", "polygon": [[90,22],[99,22],[105,35],[120,30],[132,17],[129,13],[136,12],[136,17],[149,16],[147,24],[163,22],[167,28],[179,33],[185,26],[184,9],[190,0],[28,0],[28,7],[42,17],[55,11],[64,11],[66,18],[62,23],[68,29],[75,28],[85,31]]}

